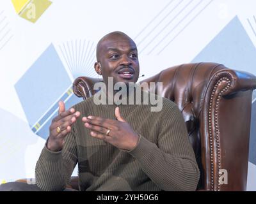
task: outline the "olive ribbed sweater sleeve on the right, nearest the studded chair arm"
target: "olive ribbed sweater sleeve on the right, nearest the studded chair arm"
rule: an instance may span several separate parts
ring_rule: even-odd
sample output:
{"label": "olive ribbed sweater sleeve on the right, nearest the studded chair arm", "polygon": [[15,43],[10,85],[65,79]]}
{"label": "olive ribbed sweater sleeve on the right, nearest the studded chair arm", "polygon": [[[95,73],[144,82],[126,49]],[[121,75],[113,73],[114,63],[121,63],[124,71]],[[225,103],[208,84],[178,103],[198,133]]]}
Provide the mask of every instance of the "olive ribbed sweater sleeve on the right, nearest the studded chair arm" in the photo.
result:
{"label": "olive ribbed sweater sleeve on the right, nearest the studded chair arm", "polygon": [[164,112],[157,144],[140,135],[129,153],[164,191],[195,191],[200,173],[184,119],[177,105]]}

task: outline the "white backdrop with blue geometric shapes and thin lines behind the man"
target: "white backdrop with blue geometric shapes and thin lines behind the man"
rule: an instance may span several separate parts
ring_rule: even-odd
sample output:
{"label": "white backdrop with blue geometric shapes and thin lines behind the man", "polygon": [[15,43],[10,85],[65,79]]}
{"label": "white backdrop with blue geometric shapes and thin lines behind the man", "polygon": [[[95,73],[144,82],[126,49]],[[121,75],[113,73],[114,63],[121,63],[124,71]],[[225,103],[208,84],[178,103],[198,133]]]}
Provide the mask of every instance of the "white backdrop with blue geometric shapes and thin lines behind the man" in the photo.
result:
{"label": "white backdrop with blue geometric shapes and thin lines behind the man", "polygon": [[[40,78],[38,87],[33,84],[36,73],[40,73],[39,77],[56,74],[51,66],[37,72],[35,62],[47,61],[49,65],[61,62],[61,77],[67,81],[61,90],[68,92],[67,84],[72,85],[77,76],[95,76],[91,70],[97,41],[111,31],[123,31],[138,45],[141,74],[145,77],[193,61],[220,62],[256,75],[254,0],[51,2],[33,23],[15,12],[11,0],[0,1],[0,183],[35,177],[35,163],[44,146],[45,133],[35,129],[33,132],[31,128],[38,122],[45,129],[51,117],[43,116],[56,112],[54,105],[61,97],[59,94],[54,98],[56,93],[51,89],[54,83],[48,77]],[[219,48],[225,52],[220,54]],[[48,52],[49,49],[52,51]],[[225,54],[228,52],[230,55]],[[58,55],[60,61],[47,58],[49,53]],[[54,77],[61,81],[58,75]],[[44,91],[52,102],[42,107],[45,99],[40,92],[45,84]],[[75,100],[72,95],[65,96],[70,103]],[[26,108],[29,106],[33,106],[33,111],[29,112]],[[44,120],[42,124],[41,120]],[[252,129],[249,191],[256,191],[255,137]]]}

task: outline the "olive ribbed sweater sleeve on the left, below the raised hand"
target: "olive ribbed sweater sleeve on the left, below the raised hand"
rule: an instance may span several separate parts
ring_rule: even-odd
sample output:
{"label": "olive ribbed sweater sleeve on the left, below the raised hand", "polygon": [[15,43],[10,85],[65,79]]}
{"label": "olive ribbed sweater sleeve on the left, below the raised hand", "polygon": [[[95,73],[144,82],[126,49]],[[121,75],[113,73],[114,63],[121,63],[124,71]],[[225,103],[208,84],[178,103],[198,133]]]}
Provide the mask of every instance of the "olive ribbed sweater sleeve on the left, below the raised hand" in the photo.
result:
{"label": "olive ribbed sweater sleeve on the left, below the raised hand", "polygon": [[36,163],[36,185],[43,191],[62,191],[70,182],[76,164],[76,138],[72,128],[61,151],[52,152],[45,145]]}

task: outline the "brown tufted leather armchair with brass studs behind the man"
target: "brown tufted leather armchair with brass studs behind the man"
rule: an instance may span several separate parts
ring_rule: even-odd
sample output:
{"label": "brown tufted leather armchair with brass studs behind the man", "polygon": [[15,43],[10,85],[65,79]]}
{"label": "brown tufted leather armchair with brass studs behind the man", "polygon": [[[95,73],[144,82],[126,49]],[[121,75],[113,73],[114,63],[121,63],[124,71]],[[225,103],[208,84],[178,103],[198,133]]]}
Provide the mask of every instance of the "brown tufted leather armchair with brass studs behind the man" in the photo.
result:
{"label": "brown tufted leather armchair with brass studs behind the man", "polygon": [[[86,99],[95,94],[93,84],[99,81],[79,77],[74,93]],[[256,77],[207,62],[164,69],[142,82],[163,82],[162,96],[179,106],[201,172],[198,189],[245,191]],[[227,170],[228,184],[220,182],[220,170]],[[71,185],[77,188],[76,180]]]}

